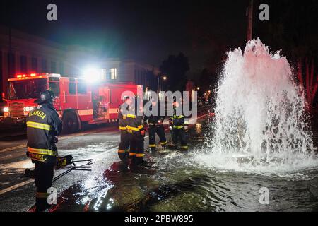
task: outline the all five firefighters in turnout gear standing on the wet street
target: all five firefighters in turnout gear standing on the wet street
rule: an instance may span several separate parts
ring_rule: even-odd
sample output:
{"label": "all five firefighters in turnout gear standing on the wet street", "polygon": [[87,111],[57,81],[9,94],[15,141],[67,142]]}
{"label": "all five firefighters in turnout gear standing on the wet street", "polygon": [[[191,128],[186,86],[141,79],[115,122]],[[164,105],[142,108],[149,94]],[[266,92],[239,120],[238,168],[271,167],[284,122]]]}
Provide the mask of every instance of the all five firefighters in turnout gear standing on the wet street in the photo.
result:
{"label": "all five firefighters in turnout gear standing on the wet street", "polygon": [[[64,167],[71,161],[69,157],[59,157],[56,143],[61,133],[62,122],[57,110],[53,106],[54,93],[46,90],[40,93],[35,101],[38,105],[29,112],[27,117],[27,156],[35,163],[34,178],[36,191],[35,210],[42,212],[49,208],[47,203],[47,189],[52,186],[54,167]],[[156,114],[143,115],[143,107],[138,105],[139,97],[125,96],[119,107],[120,143],[118,155],[120,160],[131,165],[140,166],[145,162],[144,136],[146,128],[149,133],[149,148],[155,151],[155,136],[158,134],[160,145],[165,148],[167,139],[163,126],[164,117]],[[134,101],[134,102],[133,102]],[[151,109],[159,107],[155,100],[151,100]],[[181,100],[173,101],[173,115],[170,117],[170,132],[172,144],[170,148],[177,148],[180,141],[182,150],[187,150],[187,121],[182,113]],[[153,111],[158,112],[158,111]]]}

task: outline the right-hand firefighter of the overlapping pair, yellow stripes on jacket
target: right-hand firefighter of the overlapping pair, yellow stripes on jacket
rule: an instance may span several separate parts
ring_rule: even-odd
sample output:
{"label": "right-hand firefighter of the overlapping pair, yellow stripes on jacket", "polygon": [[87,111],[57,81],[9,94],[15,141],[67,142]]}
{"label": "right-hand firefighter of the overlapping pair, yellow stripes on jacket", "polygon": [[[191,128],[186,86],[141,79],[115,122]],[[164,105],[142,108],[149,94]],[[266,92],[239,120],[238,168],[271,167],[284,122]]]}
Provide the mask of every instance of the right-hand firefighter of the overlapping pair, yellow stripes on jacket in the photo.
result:
{"label": "right-hand firefighter of the overlapping pair, yellow stripes on jacket", "polygon": [[141,165],[144,157],[143,138],[145,129],[143,128],[143,111],[140,102],[140,97],[136,95],[134,105],[129,107],[129,114],[126,115],[126,129],[129,133],[129,157],[133,165]]}

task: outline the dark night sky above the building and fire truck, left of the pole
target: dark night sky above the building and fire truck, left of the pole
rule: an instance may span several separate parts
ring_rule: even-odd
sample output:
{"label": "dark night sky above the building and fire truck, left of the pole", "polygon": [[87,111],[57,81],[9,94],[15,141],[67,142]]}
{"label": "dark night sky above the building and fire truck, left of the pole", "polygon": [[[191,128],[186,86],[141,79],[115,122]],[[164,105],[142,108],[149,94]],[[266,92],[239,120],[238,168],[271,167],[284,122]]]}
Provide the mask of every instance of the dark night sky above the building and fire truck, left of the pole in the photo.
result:
{"label": "dark night sky above the building and fire truck, left of the pole", "polygon": [[[58,21],[47,20],[57,4]],[[98,56],[160,66],[169,54],[189,57],[190,73],[208,67],[224,49],[245,43],[247,1],[1,1],[2,24]]]}

